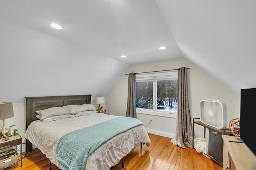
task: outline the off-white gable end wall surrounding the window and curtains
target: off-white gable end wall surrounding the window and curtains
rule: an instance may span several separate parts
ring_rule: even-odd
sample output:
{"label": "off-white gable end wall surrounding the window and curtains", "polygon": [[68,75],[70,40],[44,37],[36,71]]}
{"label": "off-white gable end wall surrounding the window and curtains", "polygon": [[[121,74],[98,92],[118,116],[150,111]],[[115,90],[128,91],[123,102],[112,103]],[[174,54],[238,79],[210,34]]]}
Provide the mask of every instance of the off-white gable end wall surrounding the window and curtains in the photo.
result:
{"label": "off-white gable end wall surrounding the window and curtains", "polygon": [[[228,118],[234,119],[240,117],[240,96],[236,96],[228,88],[220,84],[200,68],[190,63],[185,58],[170,59],[164,61],[134,64],[126,71],[130,72],[148,72],[158,70],[169,70],[180,67],[187,67],[189,106],[192,118],[199,118],[200,100],[216,99],[225,102],[228,107]],[[123,75],[119,82],[110,91],[107,98],[108,113],[112,115],[126,115],[128,93],[128,75]],[[173,137],[176,130],[176,119],[170,117],[161,117],[137,113],[137,118],[147,125],[153,118],[152,123],[146,127],[149,133]],[[192,120],[191,120],[192,121]],[[227,122],[227,123],[228,123]],[[195,137],[203,137],[202,127],[195,126]],[[206,134],[207,135],[207,134]]]}

